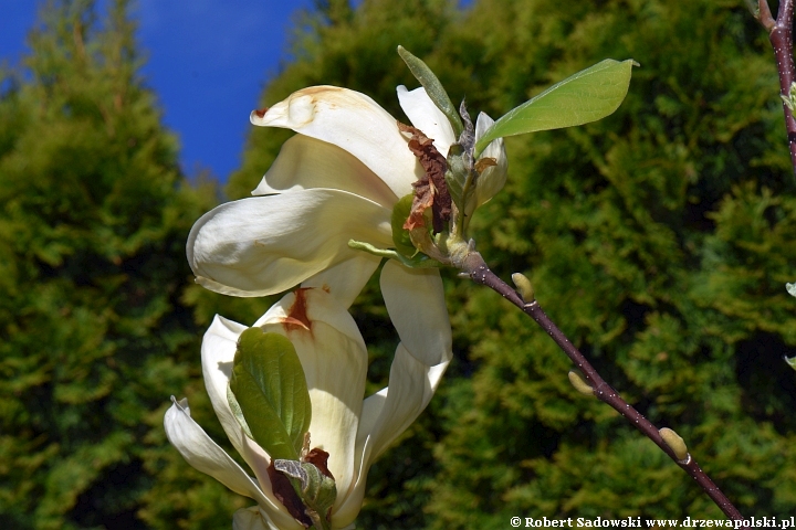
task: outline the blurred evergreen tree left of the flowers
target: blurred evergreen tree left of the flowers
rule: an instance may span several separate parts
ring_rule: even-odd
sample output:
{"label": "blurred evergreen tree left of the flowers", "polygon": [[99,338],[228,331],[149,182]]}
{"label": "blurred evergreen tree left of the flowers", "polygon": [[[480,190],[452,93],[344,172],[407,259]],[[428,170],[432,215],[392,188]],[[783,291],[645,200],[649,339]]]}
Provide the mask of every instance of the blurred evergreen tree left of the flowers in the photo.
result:
{"label": "blurred evergreen tree left of the flowers", "polygon": [[0,83],[2,528],[219,528],[245,504],[163,434],[169,393],[214,421],[185,242],[216,197],[184,183],[127,3],[51,2]]}

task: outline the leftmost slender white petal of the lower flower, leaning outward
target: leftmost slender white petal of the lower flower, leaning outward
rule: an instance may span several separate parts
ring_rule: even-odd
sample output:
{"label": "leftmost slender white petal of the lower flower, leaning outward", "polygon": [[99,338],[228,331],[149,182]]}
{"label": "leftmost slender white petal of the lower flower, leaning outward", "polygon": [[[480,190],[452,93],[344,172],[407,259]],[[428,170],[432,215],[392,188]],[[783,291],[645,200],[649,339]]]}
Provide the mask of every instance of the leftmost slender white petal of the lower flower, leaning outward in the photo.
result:
{"label": "leftmost slender white petal of the lower flower, leaning outward", "polygon": [[235,494],[269,504],[258,485],[210,436],[190,417],[188,401],[177,402],[166,412],[164,427],[166,436],[182,457],[197,468],[213,477]]}

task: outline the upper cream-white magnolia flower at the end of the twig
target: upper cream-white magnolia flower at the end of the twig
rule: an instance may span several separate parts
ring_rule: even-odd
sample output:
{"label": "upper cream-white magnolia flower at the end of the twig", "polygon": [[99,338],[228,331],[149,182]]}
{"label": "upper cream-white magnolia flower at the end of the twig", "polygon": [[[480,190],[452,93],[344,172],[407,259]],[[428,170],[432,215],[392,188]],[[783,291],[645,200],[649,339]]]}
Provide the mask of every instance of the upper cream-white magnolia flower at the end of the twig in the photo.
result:
{"label": "upper cream-white magnolia flower at the end of the twig", "polygon": [[[426,91],[399,86],[398,98],[412,124],[447,156],[457,139]],[[422,176],[407,138],[371,98],[333,86],[295,92],[270,109],[252,113],[251,121],[298,134],[282,146],[252,192],[255,197],[223,204],[193,225],[188,261],[197,282],[237,296],[281,293],[302,283],[324,287],[350,306],[380,258],[349,248],[348,241],[395,246],[392,209]],[[491,124],[481,114],[476,137]],[[493,141],[483,157],[494,158],[496,166],[479,179],[472,209],[505,182],[503,140]],[[418,274],[438,276],[433,269],[401,267],[392,280],[407,286]],[[440,296],[441,290],[420,294],[415,304]]]}

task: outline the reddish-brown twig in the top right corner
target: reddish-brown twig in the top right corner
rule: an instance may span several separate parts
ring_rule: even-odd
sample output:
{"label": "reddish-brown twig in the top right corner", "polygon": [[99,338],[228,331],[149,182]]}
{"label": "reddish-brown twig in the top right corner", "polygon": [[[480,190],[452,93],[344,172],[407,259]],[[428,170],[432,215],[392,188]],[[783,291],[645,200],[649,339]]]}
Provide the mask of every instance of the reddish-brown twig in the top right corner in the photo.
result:
{"label": "reddish-brown twig in the top right corner", "polygon": [[[768,41],[774,47],[774,56],[779,71],[779,94],[788,97],[790,85],[794,82],[794,56],[793,56],[793,0],[781,0],[777,18],[772,17],[767,0],[758,0],[757,6],[760,12],[757,20],[768,31]],[[790,148],[790,163],[796,173],[796,119],[794,119],[790,108],[783,103],[783,113],[785,113],[785,130],[788,137],[788,147]]]}

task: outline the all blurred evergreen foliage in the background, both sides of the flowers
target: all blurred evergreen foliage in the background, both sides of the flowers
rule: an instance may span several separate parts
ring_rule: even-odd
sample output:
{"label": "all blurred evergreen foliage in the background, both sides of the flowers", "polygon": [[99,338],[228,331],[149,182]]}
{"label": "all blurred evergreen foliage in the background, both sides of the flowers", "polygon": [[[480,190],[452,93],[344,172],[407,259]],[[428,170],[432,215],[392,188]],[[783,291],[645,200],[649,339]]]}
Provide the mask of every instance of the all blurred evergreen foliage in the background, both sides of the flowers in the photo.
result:
{"label": "all blurred evergreen foliage in the background, both sides of the flowers", "polygon": [[[31,78],[0,96],[0,526],[229,528],[252,504],[168,447],[168,395],[224,444],[200,380],[212,314],[270,300],[192,285],[184,245],[212,184],[186,186],[137,74],[126,2],[105,21],[61,1]],[[742,1],[320,2],[263,105],[333,84],[406,120],[395,53],[499,117],[603,59],[632,57],[611,117],[506,141],[510,177],[472,226],[502,277],[523,272],[635,406],[683,436],[745,516],[796,510],[796,195],[766,35]],[[230,199],[289,132],[253,129]],[[371,470],[366,529],[509,528],[523,517],[720,517],[498,295],[448,274],[455,359],[429,410]],[[396,344],[377,284],[353,309],[371,390]]]}

